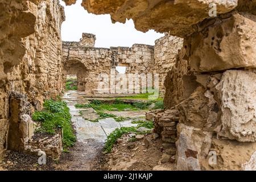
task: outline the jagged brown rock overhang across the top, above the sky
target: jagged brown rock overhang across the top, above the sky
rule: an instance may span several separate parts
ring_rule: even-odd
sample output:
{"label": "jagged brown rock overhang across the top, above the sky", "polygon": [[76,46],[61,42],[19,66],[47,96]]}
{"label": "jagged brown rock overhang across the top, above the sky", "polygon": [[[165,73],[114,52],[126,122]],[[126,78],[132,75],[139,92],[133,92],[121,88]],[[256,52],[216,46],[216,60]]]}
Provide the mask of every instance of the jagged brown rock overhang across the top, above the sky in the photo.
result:
{"label": "jagged brown rock overhang across the top, above the sky", "polygon": [[[63,1],[67,5],[75,3],[70,0]],[[83,0],[82,6],[89,13],[110,14],[112,22],[125,23],[126,18],[133,19],[135,28],[139,31],[170,31],[172,35],[184,37],[200,30],[197,23],[209,18],[211,2],[216,4],[217,14],[223,14],[233,10],[238,0]]]}

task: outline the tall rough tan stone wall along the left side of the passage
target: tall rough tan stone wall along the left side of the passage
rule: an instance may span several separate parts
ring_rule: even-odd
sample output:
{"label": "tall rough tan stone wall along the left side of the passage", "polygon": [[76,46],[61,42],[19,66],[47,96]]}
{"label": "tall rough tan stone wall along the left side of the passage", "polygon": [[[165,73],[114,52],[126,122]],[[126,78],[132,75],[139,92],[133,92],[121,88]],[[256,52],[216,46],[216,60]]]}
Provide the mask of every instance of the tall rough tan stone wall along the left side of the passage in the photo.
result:
{"label": "tall rough tan stone wall along the left side of the passage", "polygon": [[[59,0],[0,1],[0,5],[4,15],[1,16],[4,24],[1,31],[5,30],[0,39],[3,68],[0,73],[1,154],[7,147],[24,150],[23,144],[28,136],[31,137],[31,131],[28,131],[31,129],[28,127],[31,111],[42,109],[44,99],[56,97],[63,90],[59,80],[63,68],[60,27],[64,10]],[[15,23],[9,26],[8,22]],[[26,97],[27,101],[10,99],[13,93]],[[28,108],[28,111],[15,110],[20,107]],[[22,125],[18,125],[20,122]]]}

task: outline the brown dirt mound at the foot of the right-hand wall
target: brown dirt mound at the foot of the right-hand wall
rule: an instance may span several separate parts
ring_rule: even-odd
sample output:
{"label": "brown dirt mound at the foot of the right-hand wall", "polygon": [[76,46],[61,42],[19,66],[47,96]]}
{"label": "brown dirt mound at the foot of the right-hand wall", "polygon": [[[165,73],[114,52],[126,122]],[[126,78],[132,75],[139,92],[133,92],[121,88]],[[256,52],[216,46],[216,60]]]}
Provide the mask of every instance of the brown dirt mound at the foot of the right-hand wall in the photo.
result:
{"label": "brown dirt mound at the foot of the right-hand wall", "polygon": [[113,147],[112,153],[105,156],[104,168],[110,171],[174,171],[173,163],[160,162],[163,154],[162,140],[154,140],[152,135],[145,135],[135,142],[129,142],[129,134],[123,135]]}

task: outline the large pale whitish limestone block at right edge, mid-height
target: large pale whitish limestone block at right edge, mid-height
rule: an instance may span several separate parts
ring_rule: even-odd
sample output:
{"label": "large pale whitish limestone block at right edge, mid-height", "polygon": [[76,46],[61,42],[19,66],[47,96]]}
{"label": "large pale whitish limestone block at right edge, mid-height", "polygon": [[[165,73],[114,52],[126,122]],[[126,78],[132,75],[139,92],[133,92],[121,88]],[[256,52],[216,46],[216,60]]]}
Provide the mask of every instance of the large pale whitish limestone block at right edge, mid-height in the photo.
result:
{"label": "large pale whitish limestone block at right edge, mid-height", "polygon": [[216,86],[221,100],[220,137],[240,142],[256,141],[256,73],[226,71]]}

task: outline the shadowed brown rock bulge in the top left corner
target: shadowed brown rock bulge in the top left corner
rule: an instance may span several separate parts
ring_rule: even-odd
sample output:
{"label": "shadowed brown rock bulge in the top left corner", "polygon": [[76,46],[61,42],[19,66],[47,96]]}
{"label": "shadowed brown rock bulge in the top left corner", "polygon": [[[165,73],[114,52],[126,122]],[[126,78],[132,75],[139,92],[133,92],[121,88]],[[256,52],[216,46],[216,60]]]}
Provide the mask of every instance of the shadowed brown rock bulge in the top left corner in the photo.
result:
{"label": "shadowed brown rock bulge in the top left corner", "polygon": [[11,67],[20,63],[25,53],[25,48],[19,39],[35,32],[36,12],[30,1],[15,0],[1,0],[0,12],[0,86],[2,86],[7,79],[6,73]]}

